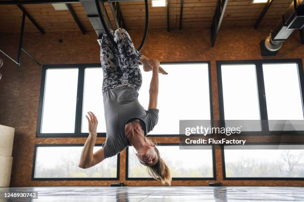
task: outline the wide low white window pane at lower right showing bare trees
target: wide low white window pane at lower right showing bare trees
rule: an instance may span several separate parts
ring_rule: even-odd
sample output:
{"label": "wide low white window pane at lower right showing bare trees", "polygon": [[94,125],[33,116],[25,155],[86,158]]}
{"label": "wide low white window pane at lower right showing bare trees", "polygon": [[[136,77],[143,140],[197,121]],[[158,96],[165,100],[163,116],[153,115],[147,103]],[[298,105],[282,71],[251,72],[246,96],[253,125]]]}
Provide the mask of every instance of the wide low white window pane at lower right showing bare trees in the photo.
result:
{"label": "wide low white window pane at lower right showing bare trees", "polygon": [[226,177],[304,177],[304,150],[226,149],[224,153]]}

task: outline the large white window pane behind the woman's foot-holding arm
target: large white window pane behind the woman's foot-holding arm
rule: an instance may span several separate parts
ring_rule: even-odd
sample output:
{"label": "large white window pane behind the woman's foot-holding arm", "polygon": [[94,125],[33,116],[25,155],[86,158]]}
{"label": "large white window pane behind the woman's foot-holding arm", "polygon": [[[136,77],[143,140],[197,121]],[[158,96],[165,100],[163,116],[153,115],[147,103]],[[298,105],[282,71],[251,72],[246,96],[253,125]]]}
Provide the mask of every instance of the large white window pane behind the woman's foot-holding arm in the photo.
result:
{"label": "large white window pane behind the woman's foot-holding arm", "polygon": [[[142,68],[142,65],[140,65]],[[149,134],[179,134],[179,120],[210,120],[209,70],[207,63],[161,64],[157,108],[159,119]],[[152,72],[144,72],[140,103],[148,109]]]}

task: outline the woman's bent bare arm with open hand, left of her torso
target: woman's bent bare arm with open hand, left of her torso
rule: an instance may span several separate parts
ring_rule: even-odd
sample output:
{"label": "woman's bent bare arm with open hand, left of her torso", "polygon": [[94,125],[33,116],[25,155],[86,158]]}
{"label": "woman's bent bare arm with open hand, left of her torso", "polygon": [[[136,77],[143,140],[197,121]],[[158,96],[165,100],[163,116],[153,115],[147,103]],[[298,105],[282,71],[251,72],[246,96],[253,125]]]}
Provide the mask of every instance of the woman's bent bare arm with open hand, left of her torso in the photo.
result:
{"label": "woman's bent bare arm with open hand, left of her torso", "polygon": [[85,141],[81,152],[80,161],[78,165],[80,168],[89,168],[104,160],[103,148],[93,153],[93,148],[97,138],[98,121],[96,116],[92,112],[88,112],[88,114],[90,118],[88,118],[86,115],[85,117],[87,118],[89,124],[89,135]]}

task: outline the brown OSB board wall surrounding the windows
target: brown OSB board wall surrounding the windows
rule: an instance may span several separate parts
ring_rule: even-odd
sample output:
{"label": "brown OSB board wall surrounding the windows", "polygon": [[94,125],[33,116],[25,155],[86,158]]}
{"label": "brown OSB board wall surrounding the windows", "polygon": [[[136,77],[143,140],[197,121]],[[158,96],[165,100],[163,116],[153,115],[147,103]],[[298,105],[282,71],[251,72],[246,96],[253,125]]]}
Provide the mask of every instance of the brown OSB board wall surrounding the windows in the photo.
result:
{"label": "brown OSB board wall surrounding the windows", "polygon": [[[219,119],[217,60],[245,60],[262,58],[304,58],[304,46],[295,32],[283,44],[276,56],[261,57],[259,42],[269,34],[269,29],[222,29],[214,48],[210,46],[210,31],[204,29],[149,31],[143,54],[160,61],[210,60],[212,74],[212,100],[214,119]],[[143,30],[129,32],[138,47]],[[13,58],[17,57],[18,34],[0,34],[0,48]],[[63,39],[63,43],[58,40]],[[26,33],[23,47],[43,64],[98,63],[99,46],[96,34],[89,32]],[[128,186],[158,186],[156,181],[125,180],[126,152],[121,152],[120,180],[117,181],[31,181],[35,144],[83,144],[85,138],[36,138],[41,68],[26,55],[22,55],[21,67],[4,58],[0,69],[0,124],[16,128],[13,146],[13,167],[10,186],[108,186],[113,182],[125,182]],[[64,115],[64,114],[59,114]],[[159,143],[178,142],[175,138],[154,138]],[[97,143],[103,143],[98,138]],[[304,186],[304,181],[223,180],[222,154],[216,150],[216,181],[226,186]],[[172,186],[208,185],[212,181],[173,181]]]}

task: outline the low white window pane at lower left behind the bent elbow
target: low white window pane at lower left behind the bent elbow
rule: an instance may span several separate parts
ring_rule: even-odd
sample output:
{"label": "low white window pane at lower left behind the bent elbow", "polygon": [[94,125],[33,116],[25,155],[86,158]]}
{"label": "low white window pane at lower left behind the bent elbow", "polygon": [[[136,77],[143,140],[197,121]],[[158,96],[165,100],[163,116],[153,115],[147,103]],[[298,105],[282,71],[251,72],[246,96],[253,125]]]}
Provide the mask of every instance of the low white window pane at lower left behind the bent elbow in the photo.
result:
{"label": "low white window pane at lower left behind the bent elbow", "polygon": [[[78,167],[82,146],[37,147],[35,178],[116,178],[117,155],[90,168]],[[93,152],[101,146],[93,148]]]}

